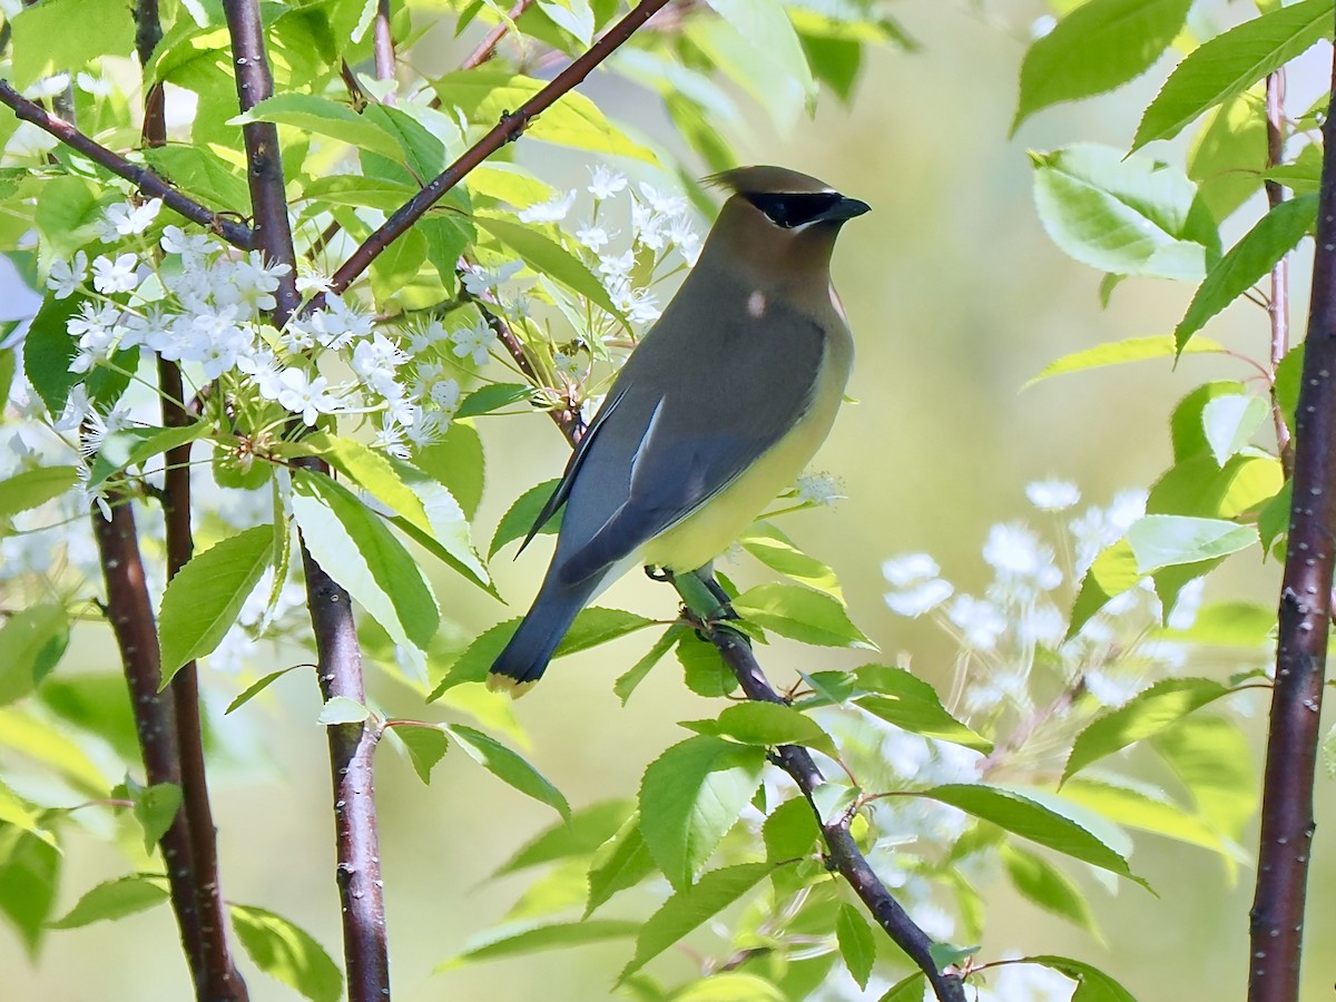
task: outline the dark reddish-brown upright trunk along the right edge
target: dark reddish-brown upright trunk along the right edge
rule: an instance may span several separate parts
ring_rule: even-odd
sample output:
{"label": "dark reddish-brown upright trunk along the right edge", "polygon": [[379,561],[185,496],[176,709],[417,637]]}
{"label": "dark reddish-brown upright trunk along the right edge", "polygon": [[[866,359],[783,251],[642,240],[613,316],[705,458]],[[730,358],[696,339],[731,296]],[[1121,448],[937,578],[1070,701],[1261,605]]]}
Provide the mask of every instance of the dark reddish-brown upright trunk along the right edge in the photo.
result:
{"label": "dark reddish-brown upright trunk along the right edge", "polygon": [[[1336,102],[1336,61],[1332,65]],[[1328,104],[1328,108],[1332,106]],[[1336,530],[1336,120],[1323,123],[1317,247],[1295,422],[1293,502],[1263,779],[1249,1002],[1295,1002],[1313,838]]]}

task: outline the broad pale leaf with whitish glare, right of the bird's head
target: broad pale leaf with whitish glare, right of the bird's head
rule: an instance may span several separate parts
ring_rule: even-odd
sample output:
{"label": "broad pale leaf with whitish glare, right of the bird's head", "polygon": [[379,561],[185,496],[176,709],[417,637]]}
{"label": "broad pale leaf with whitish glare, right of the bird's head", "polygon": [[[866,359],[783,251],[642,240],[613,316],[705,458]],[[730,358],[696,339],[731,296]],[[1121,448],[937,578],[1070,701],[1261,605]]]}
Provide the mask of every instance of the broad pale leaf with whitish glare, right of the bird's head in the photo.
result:
{"label": "broad pale leaf with whitish glare, right of the bird's head", "polygon": [[1220,235],[1177,168],[1093,143],[1030,158],[1039,222],[1069,257],[1116,275],[1206,274]]}

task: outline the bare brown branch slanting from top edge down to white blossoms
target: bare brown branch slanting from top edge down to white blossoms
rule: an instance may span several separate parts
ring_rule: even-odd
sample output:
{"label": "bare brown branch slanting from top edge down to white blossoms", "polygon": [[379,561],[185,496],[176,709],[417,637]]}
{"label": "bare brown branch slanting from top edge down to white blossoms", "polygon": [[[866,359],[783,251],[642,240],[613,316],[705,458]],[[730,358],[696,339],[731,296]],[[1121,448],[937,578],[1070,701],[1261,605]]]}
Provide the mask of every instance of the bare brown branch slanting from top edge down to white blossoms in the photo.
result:
{"label": "bare brown branch slanting from top edge down to white blossoms", "polygon": [[[540,114],[552,107],[557,99],[581,83],[595,67],[611,56],[619,45],[636,33],[668,0],[641,0],[631,13],[617,21],[608,32],[600,37],[589,49],[562,69],[546,87],[521,104],[516,111],[502,116],[492,131],[466,150],[460,159],[437,175],[425,188],[410,198],[403,206],[394,211],[379,230],[373,232],[362,244],[353,251],[347,261],[334,273],[330,287],[335,293],[347,289],[358,275],[370,267],[386,247],[402,236],[409,227],[426,215],[450,188],[464,180],[469,171],[486,160],[492,154],[509,142],[520,138],[520,134]],[[321,298],[313,302],[318,306]]]}

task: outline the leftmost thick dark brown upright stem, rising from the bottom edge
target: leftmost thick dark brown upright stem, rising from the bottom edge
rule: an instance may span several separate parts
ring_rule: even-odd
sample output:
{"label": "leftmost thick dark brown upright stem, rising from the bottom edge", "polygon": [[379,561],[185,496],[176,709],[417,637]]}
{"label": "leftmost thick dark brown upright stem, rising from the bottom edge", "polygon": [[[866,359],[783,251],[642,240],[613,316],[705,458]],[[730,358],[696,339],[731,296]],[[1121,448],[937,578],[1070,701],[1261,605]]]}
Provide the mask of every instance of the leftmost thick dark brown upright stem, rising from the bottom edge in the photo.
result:
{"label": "leftmost thick dark brown upright stem, rising from the bottom edge", "polygon": [[[116,635],[120,661],[130,685],[130,708],[135,716],[139,751],[144,759],[148,786],[180,786],[180,754],[176,747],[176,720],[172,704],[158,692],[162,663],[154,607],[144,584],[144,565],[139,553],[135,514],[128,498],[111,497],[111,518],[92,509],[92,530],[98,541],[103,580],[107,585],[107,620]],[[180,927],[180,942],[190,965],[195,997],[204,1002],[207,994],[206,957],[195,904],[194,862],[186,815],[176,811],[171,827],[163,832],[158,847],[167,868],[172,911]]]}

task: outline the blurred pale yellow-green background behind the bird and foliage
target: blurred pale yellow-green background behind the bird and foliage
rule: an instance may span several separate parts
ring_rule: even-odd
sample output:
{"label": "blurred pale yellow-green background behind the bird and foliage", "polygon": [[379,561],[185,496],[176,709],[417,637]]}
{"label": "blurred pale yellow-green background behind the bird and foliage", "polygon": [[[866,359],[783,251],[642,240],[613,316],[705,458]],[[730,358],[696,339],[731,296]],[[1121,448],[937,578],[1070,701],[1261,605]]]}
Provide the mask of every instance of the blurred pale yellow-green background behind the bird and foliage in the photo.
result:
{"label": "blurred pale yellow-green background behind the bird and foliage", "polygon": [[[1245,13],[1224,3],[1198,7],[1197,16],[1222,23]],[[880,561],[926,550],[958,588],[978,588],[986,580],[978,552],[987,528],[1017,518],[1041,524],[1025,500],[1027,482],[1050,476],[1071,480],[1081,486],[1083,502],[1093,504],[1108,504],[1122,488],[1148,486],[1170,460],[1166,418],[1174,401],[1208,378],[1244,378],[1246,373],[1237,361],[1198,357],[1185,359],[1177,373],[1168,362],[1144,362],[1021,391],[1026,379],[1061,354],[1168,333],[1190,298],[1193,290],[1184,285],[1132,279],[1101,310],[1100,275],[1047,240],[1030,196],[1029,148],[1083,139],[1126,147],[1165,67],[1125,92],[1043,112],[1009,139],[1029,25],[1046,8],[989,3],[979,9],[969,0],[929,0],[888,9],[922,49],[870,53],[855,100],[843,107],[823,95],[815,120],[798,123],[790,135],[776,135],[762,112],[754,112],[740,159],[815,174],[874,207],[847,227],[834,266],[859,346],[850,386],[858,403],[846,406],[818,464],[842,480],[848,500],[834,510],[788,517],[783,525],[807,552],[836,569],[854,620],[886,657],[908,652],[914,668],[945,691],[954,645],[931,624],[886,609]],[[470,40],[466,35],[456,43],[448,36],[448,31],[433,36],[442,47],[442,68]],[[1292,73],[1292,107],[1307,108],[1321,91],[1328,57],[1323,47]],[[652,95],[607,76],[591,79],[588,91],[611,114],[647,131],[661,122]],[[1181,151],[1153,152],[1181,163]],[[568,154],[521,143],[517,155],[553,183],[574,184],[587,176],[585,166]],[[1257,211],[1259,204],[1249,204],[1237,214],[1225,227],[1226,244]],[[1293,271],[1300,331],[1307,275],[1300,254]],[[1250,355],[1265,354],[1261,310],[1234,306],[1208,334]],[[480,516],[480,538],[485,540],[522,489],[560,470],[565,446],[538,415],[482,422],[482,432],[489,460]],[[510,550],[498,560],[494,570],[509,611],[438,578],[445,613],[473,631],[514,615],[516,607],[528,604],[549,546],[544,540],[517,562],[509,558]],[[1277,568],[1237,562],[1212,582],[1208,600],[1272,603]],[[731,570],[743,580],[760,580],[759,569],[745,561]],[[601,604],[661,619],[675,611],[671,592],[639,574],[628,576]],[[88,633],[81,640],[76,655],[86,664],[112,664],[110,636]],[[683,736],[676,721],[715,709],[684,689],[671,659],[625,709],[619,708],[612,680],[647,644],[647,635],[636,635],[558,661],[544,685],[517,704],[532,737],[530,759],[574,806],[632,796],[645,764]],[[854,652],[783,641],[764,649],[762,660],[776,680],[798,668],[862,661]],[[1222,679],[1234,667],[1202,659],[1190,671]],[[240,683],[215,679],[210,688],[226,704]],[[390,683],[377,689],[393,712],[422,712],[406,689]],[[1260,755],[1265,707],[1261,699],[1252,705]],[[337,957],[330,784],[325,735],[315,724],[318,709],[315,687],[298,672],[279,681],[269,699],[219,719],[222,745],[230,749],[224,758],[232,764],[220,764],[211,780],[226,895],[291,918]],[[265,759],[271,767],[258,770],[255,763]],[[615,971],[629,955],[627,945],[432,975],[432,967],[464,938],[498,921],[514,902],[526,878],[489,880],[488,874],[554,815],[458,752],[437,768],[429,788],[391,748],[382,748],[378,766],[395,997],[405,1002],[607,998]],[[1305,998],[1328,997],[1336,981],[1336,954],[1324,949],[1336,933],[1325,907],[1336,878],[1336,852],[1324,839],[1333,820],[1325,775],[1319,776],[1317,819]],[[1212,855],[1141,835],[1132,863],[1158,898],[1133,884],[1110,895],[1078,874],[1106,945],[1019,902],[998,880],[985,891],[983,954],[1057,953],[1089,959],[1144,1001],[1242,998],[1250,871],[1241,871],[1237,884],[1229,886]],[[1075,872],[1077,866],[1067,870]],[[110,847],[76,836],[57,911],[120,872],[124,862]],[[685,954],[669,954],[657,963],[676,965],[684,974],[692,962]],[[166,908],[55,933],[36,965],[12,937],[0,935],[0,970],[5,971],[3,994],[13,999],[159,1002],[190,995]],[[248,965],[244,970],[253,999],[294,997]]]}

